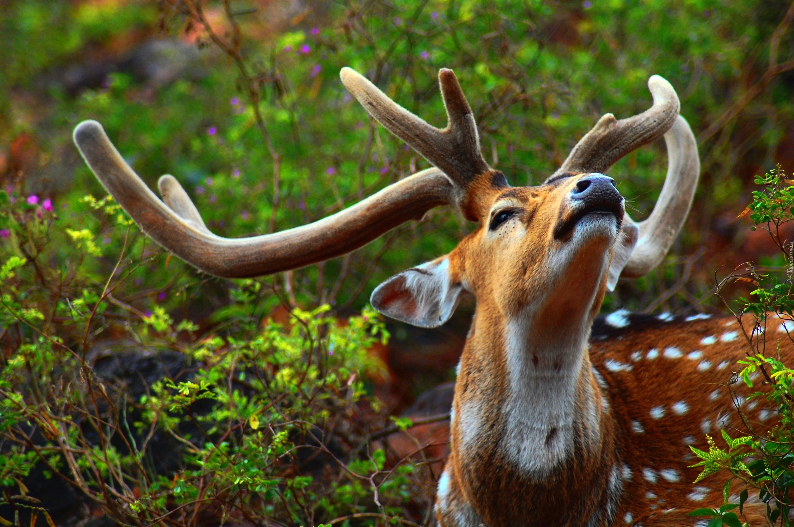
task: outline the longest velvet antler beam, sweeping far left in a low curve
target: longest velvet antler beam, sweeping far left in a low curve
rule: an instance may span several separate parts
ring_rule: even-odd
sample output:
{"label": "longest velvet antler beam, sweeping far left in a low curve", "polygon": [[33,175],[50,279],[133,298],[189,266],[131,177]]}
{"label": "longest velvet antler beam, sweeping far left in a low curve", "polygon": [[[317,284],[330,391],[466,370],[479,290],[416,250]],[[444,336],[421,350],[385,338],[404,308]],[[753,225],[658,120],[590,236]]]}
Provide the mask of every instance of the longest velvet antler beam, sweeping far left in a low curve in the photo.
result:
{"label": "longest velvet antler beam, sweeping far left in a low curve", "polygon": [[143,231],[185,262],[219,277],[256,277],[341,256],[407,220],[420,219],[430,208],[454,202],[449,178],[428,169],[309,225],[272,235],[222,238],[206,228],[172,176],[159,182],[168,205],[159,200],[121,158],[101,124],[83,121],[74,139],[99,181]]}

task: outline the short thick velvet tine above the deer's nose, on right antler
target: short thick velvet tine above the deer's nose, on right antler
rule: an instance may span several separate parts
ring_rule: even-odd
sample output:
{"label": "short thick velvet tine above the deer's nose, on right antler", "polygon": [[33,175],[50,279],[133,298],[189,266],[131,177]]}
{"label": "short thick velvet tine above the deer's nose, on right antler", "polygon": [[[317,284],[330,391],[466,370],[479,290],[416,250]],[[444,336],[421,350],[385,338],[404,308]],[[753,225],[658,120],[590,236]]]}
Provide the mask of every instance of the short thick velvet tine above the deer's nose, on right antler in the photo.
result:
{"label": "short thick velvet tine above the deer's nose, on right antler", "polygon": [[565,173],[603,174],[619,158],[664,135],[680,111],[678,95],[673,86],[659,75],[648,79],[648,89],[653,95],[653,106],[622,120],[616,120],[611,113],[602,116],[549,179]]}

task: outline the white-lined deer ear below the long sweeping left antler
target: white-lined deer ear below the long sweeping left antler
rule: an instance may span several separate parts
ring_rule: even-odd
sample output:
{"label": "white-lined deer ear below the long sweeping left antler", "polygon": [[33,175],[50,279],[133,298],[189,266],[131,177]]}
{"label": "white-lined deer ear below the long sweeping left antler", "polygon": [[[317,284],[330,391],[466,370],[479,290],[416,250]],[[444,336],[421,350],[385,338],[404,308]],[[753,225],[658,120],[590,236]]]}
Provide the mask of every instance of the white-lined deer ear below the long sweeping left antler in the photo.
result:
{"label": "white-lined deer ear below the long sweeping left antler", "polygon": [[372,292],[372,307],[392,319],[418,327],[439,327],[455,312],[464,287],[453,280],[449,258],[407,269]]}

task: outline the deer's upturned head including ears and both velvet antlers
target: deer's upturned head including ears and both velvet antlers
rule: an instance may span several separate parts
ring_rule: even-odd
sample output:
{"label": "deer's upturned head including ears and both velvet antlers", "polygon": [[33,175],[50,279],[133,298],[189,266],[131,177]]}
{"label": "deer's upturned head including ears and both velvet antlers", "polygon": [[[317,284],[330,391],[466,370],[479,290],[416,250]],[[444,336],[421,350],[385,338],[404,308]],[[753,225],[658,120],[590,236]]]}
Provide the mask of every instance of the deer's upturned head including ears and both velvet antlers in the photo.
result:
{"label": "deer's upturned head including ears and both velvet antlers", "polygon": [[[457,206],[468,220],[480,222],[480,229],[453,253],[400,273],[372,296],[373,305],[385,314],[424,327],[449,319],[464,288],[478,298],[486,292],[509,292],[501,296],[505,305],[520,303],[522,296],[526,299],[530,291],[542,289],[538,281],[549,283],[550,277],[566,275],[574,261],[601,265],[603,269],[585,273],[599,285],[602,271],[608,269],[604,283],[609,288],[621,273],[642,276],[664,257],[692,202],[698,175],[692,132],[677,116],[675,91],[661,77],[649,80],[651,109],[625,120],[603,116],[560,170],[544,185],[528,188],[511,188],[504,175],[485,162],[472,109],[453,71],[442,69],[438,74],[449,118],[443,129],[395,104],[350,68],[342,69],[341,79],[376,120],[437,168],[398,181],[333,216],[271,235],[243,239],[214,235],[170,175],[158,182],[161,201],[121,158],[96,121],[79,124],[74,139],[102,185],[152,239],[220,277],[260,276],[322,262],[364,246],[400,223],[419,219],[437,205]],[[665,132],[668,178],[649,219],[636,225],[623,211],[611,180],[601,173]],[[602,258],[594,258],[595,253]],[[610,258],[611,265],[604,266]],[[499,280],[488,281],[496,269]]]}

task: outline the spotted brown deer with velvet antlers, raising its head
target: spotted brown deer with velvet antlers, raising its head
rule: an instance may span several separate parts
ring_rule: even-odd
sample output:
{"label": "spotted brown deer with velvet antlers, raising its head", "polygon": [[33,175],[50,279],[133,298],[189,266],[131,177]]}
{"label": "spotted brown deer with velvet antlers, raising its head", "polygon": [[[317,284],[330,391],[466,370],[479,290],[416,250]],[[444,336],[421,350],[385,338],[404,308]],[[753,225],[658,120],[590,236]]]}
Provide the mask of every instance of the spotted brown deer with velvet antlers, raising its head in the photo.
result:
{"label": "spotted brown deer with velvet antlers, raising its head", "polygon": [[[251,238],[210,232],[170,175],[160,178],[158,199],[97,122],[79,124],[74,139],[102,185],[152,239],[221,277],[322,262],[430,208],[458,208],[479,223],[475,231],[449,254],[372,292],[381,313],[420,327],[445,323],[464,291],[476,297],[437,521],[696,525],[685,513],[719,506],[722,498],[692,485],[697,472],[687,468],[687,445],[703,447],[704,433],[730,425],[730,398],[707,384],[724,383],[742,354],[737,330],[729,319],[618,312],[592,333],[607,289],[661,262],[692,204],[700,161],[673,86],[654,75],[650,109],[623,120],[604,115],[542,185],[511,187],[481,155],[453,71],[442,69],[438,79],[449,119],[442,129],[342,69],[342,82],[368,113],[434,167],[323,220]],[[635,223],[604,173],[662,136],[667,179],[648,219]],[[769,418],[768,409],[755,411],[759,421]],[[750,521],[761,514],[761,504],[746,507]]]}

